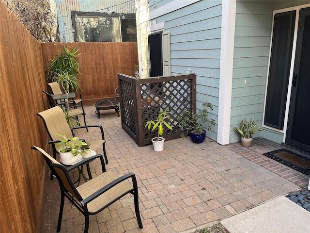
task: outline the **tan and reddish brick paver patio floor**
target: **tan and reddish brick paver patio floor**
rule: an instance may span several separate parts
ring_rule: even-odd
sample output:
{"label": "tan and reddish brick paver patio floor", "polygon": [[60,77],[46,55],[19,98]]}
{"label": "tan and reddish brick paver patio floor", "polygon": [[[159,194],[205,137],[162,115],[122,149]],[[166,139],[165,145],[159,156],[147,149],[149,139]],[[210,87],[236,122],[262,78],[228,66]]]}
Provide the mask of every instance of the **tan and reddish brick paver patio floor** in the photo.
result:
{"label": "tan and reddish brick paver patio floor", "polygon": [[[104,127],[107,170],[136,174],[143,223],[140,229],[133,197],[127,195],[91,216],[90,233],[180,233],[285,195],[298,185],[308,186],[309,177],[262,155],[281,148],[265,139],[255,139],[246,149],[240,143],[221,146],[208,138],[194,144],[186,137],[165,141],[164,150],[155,152],[152,145],[138,147],[121,128],[117,114],[98,119],[92,105],[85,111],[88,125]],[[99,137],[95,130],[90,133]],[[80,138],[87,139],[86,135],[78,132]],[[100,174],[98,161],[91,163],[91,170]],[[45,233],[54,233],[60,206],[56,179],[48,183],[47,199]],[[83,227],[84,216],[66,201],[61,232],[82,233]]]}

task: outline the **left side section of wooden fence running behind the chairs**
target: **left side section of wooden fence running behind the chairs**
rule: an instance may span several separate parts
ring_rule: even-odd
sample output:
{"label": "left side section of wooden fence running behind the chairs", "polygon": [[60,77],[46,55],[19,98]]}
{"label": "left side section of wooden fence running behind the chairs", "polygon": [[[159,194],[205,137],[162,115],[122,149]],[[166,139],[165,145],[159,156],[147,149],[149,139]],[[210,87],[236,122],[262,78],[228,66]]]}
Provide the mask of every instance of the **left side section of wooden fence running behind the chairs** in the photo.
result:
{"label": "left side section of wooden fence running behind the chairs", "polygon": [[41,43],[0,2],[1,232],[43,232],[46,194],[41,186],[47,133],[37,112],[46,88]]}

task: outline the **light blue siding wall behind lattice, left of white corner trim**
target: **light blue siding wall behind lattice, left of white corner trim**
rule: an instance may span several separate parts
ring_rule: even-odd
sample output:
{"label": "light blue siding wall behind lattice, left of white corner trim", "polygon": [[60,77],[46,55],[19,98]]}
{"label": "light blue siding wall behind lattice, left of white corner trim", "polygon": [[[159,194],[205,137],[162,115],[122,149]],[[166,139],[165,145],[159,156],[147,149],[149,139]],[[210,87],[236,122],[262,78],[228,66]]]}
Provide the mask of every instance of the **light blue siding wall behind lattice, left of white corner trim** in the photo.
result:
{"label": "light blue siding wall behind lattice, left of white corner trim", "polygon": [[[169,1],[167,1],[169,2]],[[197,74],[197,108],[210,101],[217,121],[221,45],[221,0],[202,0],[164,16],[152,19],[164,22],[171,33],[171,74],[184,74],[191,69]],[[157,1],[157,6],[160,4]],[[154,5],[154,0],[150,2]],[[154,8],[153,8],[154,9]],[[217,126],[207,132],[217,139]]]}

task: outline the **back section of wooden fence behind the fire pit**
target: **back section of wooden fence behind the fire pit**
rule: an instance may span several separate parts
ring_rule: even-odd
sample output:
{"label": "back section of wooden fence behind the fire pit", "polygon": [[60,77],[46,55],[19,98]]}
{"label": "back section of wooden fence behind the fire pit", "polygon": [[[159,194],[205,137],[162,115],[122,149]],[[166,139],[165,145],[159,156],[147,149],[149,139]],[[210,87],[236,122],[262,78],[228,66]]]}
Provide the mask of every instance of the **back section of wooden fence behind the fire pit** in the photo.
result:
{"label": "back section of wooden fence behind the fire pit", "polygon": [[42,44],[44,67],[50,59],[55,59],[66,46],[70,50],[77,47],[80,64],[79,76],[84,103],[94,103],[99,99],[114,98],[118,85],[117,74],[133,76],[138,64],[137,42],[94,42],[94,43],[46,43]]}

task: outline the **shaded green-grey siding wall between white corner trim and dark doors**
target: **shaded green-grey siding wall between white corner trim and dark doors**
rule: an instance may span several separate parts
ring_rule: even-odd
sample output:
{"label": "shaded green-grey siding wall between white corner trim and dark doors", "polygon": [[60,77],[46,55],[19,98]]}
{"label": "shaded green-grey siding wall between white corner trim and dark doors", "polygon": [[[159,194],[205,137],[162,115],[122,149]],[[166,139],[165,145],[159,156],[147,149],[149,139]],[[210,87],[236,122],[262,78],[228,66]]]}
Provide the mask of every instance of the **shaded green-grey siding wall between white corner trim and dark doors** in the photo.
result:
{"label": "shaded green-grey siding wall between white corner trim and dark doors", "polygon": [[233,129],[243,118],[262,125],[272,18],[272,1],[237,0],[230,143],[240,141]]}

